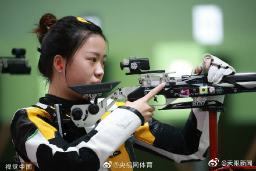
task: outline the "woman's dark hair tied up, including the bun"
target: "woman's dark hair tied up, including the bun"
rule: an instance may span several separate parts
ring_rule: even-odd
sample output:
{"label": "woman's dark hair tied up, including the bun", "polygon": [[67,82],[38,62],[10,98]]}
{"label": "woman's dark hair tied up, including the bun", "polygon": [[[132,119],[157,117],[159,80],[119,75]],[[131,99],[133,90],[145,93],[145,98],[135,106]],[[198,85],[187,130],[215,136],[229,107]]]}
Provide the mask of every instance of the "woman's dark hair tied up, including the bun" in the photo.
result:
{"label": "woman's dark hair tied up, including the bun", "polygon": [[[106,41],[100,27],[88,21],[81,22],[74,16],[66,16],[57,20],[51,13],[46,13],[32,33],[37,33],[41,44],[41,55],[38,70],[47,81],[52,79],[54,57],[61,55],[66,59],[66,69],[80,45],[90,35],[98,34]],[[49,27],[49,28],[48,28]]]}

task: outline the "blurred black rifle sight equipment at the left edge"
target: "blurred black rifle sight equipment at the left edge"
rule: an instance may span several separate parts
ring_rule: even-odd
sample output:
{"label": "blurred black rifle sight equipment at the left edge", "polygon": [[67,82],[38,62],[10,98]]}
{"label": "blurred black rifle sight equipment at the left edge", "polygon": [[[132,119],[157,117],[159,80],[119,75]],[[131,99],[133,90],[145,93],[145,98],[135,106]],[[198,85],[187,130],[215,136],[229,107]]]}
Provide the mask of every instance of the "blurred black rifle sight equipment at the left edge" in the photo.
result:
{"label": "blurred black rifle sight equipment at the left edge", "polygon": [[13,48],[13,57],[0,57],[0,68],[2,67],[2,73],[10,74],[30,74],[31,67],[29,66],[29,60],[25,59],[26,50]]}

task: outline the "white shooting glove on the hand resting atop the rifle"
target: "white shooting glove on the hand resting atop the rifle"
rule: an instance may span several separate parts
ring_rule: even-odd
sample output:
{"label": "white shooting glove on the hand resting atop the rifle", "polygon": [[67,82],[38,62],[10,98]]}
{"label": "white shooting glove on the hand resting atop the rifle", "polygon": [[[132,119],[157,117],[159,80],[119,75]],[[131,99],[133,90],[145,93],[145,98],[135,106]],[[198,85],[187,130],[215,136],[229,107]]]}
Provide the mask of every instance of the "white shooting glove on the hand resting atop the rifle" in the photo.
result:
{"label": "white shooting glove on the hand resting atop the rifle", "polygon": [[[211,66],[207,68],[205,66],[205,61],[207,59],[211,59]],[[213,56],[211,54],[204,54],[202,56],[202,63],[201,63],[202,72],[200,74],[208,74],[208,82],[218,84],[219,81],[222,80],[223,76],[227,76],[232,73],[236,73],[236,70],[230,65],[228,65],[226,62],[223,62],[221,59],[217,58],[216,56]],[[195,69],[192,71],[192,75],[195,75]]]}

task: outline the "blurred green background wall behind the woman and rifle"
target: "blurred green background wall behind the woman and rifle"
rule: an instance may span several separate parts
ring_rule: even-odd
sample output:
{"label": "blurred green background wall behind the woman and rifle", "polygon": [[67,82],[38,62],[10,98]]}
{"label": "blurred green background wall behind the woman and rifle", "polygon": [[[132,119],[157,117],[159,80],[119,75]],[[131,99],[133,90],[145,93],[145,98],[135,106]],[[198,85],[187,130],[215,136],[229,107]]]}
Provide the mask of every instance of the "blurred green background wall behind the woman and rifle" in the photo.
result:
{"label": "blurred green background wall behind the woman and rifle", "polygon": [[[202,46],[193,40],[191,10],[194,5],[215,4],[223,12],[224,40],[221,45]],[[122,81],[120,87],[138,85],[137,76],[125,76],[119,63],[123,58],[149,58],[152,70],[165,69],[173,59],[200,65],[202,55],[221,57],[237,72],[256,72],[256,1],[0,1],[0,56],[12,56],[12,48],[25,48],[32,72],[26,76],[0,74],[0,122],[9,124],[19,108],[33,105],[47,92],[39,76],[36,51],[40,44],[29,33],[44,13],[63,16],[97,15],[109,41],[104,81]],[[173,50],[172,50],[173,49]],[[167,55],[166,55],[167,54]],[[169,54],[169,56],[168,56]],[[168,60],[169,59],[169,60]],[[182,66],[181,66],[182,67]],[[189,73],[188,73],[189,74]],[[255,136],[256,93],[227,95],[219,121],[220,157],[226,160],[244,159]],[[188,111],[155,112],[162,122],[182,127]],[[230,135],[230,136],[228,136]],[[228,136],[228,138],[226,137]],[[246,142],[241,137],[247,137]],[[233,143],[236,142],[236,143]],[[234,148],[239,150],[234,151]],[[11,152],[10,152],[11,151]],[[179,170],[180,166],[136,150],[138,159],[152,159],[153,168]],[[12,161],[12,144],[5,150],[2,161]],[[147,162],[147,160],[144,160]],[[207,162],[208,163],[208,162]],[[204,163],[202,165],[207,165]],[[255,163],[255,161],[254,161]],[[183,165],[183,164],[181,164]],[[193,166],[195,164],[192,164]]]}

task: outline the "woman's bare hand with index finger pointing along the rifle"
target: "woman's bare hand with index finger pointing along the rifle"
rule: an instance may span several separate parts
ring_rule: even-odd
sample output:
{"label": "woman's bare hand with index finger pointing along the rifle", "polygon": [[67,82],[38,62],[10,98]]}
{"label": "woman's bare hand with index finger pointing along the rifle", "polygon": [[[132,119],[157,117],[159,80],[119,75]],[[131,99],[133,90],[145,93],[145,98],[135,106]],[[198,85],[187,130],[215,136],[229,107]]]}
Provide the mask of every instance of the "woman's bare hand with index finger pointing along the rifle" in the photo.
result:
{"label": "woman's bare hand with index finger pointing along the rifle", "polygon": [[137,101],[130,102],[126,100],[125,106],[137,109],[137,111],[140,112],[141,115],[144,117],[145,122],[150,122],[152,116],[154,115],[153,112],[155,111],[155,107],[148,105],[148,101],[150,101],[151,98],[157,95],[158,92],[161,91],[163,87],[165,87],[165,85],[166,83],[159,84],[157,87],[148,92],[148,94],[145,95],[143,98],[137,99]]}

